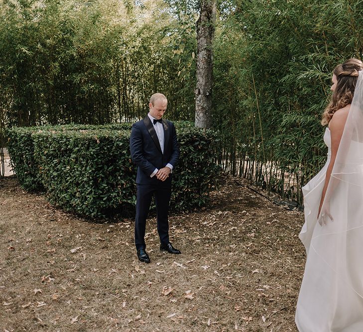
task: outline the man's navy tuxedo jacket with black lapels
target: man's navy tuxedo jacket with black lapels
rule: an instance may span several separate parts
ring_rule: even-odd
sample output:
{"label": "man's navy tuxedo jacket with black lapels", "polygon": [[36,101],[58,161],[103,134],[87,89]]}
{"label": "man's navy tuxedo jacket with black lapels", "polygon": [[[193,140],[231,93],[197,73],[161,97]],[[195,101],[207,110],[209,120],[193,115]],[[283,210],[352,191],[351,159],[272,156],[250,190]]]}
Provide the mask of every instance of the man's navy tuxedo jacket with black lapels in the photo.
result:
{"label": "man's navy tuxedo jacket with black lapels", "polygon": [[[176,131],[173,122],[163,119],[164,127],[164,153],[161,152],[159,140],[150,118],[146,115],[142,120],[132,125],[130,136],[130,151],[132,161],[138,166],[137,184],[157,184],[160,182],[150,175],[155,168],[160,169],[166,164],[173,165],[179,160],[179,144],[176,138]],[[171,182],[171,176],[165,181]]]}

